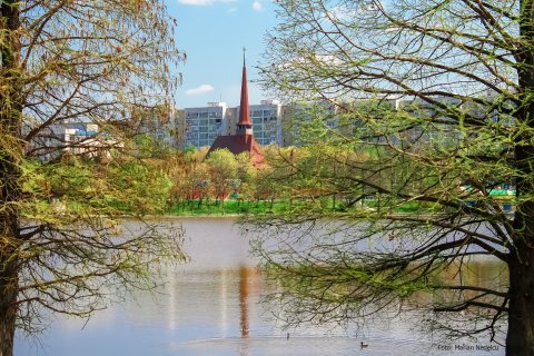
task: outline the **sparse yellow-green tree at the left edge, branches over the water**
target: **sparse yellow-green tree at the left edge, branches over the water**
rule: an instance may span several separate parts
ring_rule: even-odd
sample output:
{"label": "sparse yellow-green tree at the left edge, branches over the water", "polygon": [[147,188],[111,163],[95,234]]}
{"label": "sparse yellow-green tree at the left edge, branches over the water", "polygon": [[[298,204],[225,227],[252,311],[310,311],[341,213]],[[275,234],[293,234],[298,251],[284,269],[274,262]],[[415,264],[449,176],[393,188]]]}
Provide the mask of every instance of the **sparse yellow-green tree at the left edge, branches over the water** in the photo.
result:
{"label": "sparse yellow-green tree at the left edge, branches over the water", "polygon": [[[88,316],[116,287],[150,286],[160,258],[182,257],[179,230],[118,220],[147,211],[117,208],[146,194],[132,179],[165,179],[60,159],[120,147],[146,119],[137,112],[169,108],[184,59],[172,28],[164,1],[0,1],[0,355],[12,355],[16,325],[32,333],[47,309]],[[57,135],[77,123],[99,132]]]}

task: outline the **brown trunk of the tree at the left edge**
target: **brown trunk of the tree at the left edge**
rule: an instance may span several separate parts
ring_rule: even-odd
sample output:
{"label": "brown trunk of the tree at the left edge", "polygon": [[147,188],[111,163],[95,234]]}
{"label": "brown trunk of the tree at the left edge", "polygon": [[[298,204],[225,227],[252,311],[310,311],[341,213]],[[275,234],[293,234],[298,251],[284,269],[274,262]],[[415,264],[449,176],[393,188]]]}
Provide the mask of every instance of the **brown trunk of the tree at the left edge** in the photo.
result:
{"label": "brown trunk of the tree at the left edge", "polygon": [[18,259],[22,87],[19,1],[0,1],[0,356],[13,355],[19,291]]}

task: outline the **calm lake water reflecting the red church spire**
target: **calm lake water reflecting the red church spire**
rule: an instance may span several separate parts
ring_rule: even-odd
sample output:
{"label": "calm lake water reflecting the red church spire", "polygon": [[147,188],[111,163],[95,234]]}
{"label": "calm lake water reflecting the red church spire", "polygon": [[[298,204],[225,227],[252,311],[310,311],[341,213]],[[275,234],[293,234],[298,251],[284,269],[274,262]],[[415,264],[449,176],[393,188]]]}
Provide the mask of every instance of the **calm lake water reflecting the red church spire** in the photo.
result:
{"label": "calm lake water reflecting the red church spire", "polygon": [[[19,337],[16,355],[504,355],[503,347],[476,349],[486,339],[443,342],[419,334],[416,310],[366,320],[357,329],[325,325],[286,330],[259,303],[266,286],[233,220],[181,221],[191,263],[167,271],[160,295],[138,294],[89,322],[55,319],[39,339]],[[369,347],[360,349],[362,340]]]}

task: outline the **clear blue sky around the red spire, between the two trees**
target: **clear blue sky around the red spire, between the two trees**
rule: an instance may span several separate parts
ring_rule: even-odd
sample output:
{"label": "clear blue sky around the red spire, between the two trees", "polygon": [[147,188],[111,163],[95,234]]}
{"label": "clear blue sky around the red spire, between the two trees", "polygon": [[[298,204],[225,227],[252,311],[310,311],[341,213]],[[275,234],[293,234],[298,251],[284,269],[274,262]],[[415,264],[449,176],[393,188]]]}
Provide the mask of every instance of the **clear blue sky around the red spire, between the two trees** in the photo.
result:
{"label": "clear blue sky around the red spire, between the two trees", "polygon": [[239,105],[243,48],[246,47],[249,101],[270,99],[254,83],[266,32],[276,24],[271,0],[167,0],[178,20],[176,43],[187,53],[176,92],[178,108],[208,101]]}

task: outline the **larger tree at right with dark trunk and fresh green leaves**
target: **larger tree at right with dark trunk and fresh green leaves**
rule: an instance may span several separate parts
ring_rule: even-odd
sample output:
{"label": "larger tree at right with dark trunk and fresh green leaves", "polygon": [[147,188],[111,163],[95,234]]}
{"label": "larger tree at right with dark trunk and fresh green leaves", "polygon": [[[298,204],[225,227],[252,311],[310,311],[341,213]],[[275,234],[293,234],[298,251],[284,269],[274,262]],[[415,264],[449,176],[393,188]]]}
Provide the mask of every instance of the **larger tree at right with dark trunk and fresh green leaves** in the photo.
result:
{"label": "larger tree at right with dark trunk and fresh green leaves", "polygon": [[[337,116],[336,126],[306,123],[314,165],[295,166],[291,181],[309,186],[308,204],[256,221],[338,221],[328,229],[337,237],[299,234],[306,244],[258,247],[271,270],[307,286],[288,289],[299,296],[296,310],[348,318],[369,303],[432,290],[442,296],[427,304],[436,318],[465,310],[475,318],[442,326],[494,339],[507,320],[506,354],[534,355],[534,2],[277,3],[265,86],[326,102]],[[513,214],[497,189],[515,190],[506,198]],[[345,201],[337,211],[319,204],[334,195]],[[362,249],[363,241],[382,247]],[[462,278],[478,256],[501,261],[507,278],[494,286]],[[439,277],[451,268],[458,278]]]}

